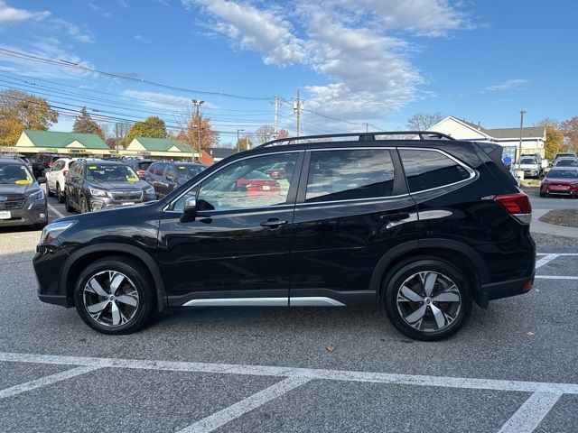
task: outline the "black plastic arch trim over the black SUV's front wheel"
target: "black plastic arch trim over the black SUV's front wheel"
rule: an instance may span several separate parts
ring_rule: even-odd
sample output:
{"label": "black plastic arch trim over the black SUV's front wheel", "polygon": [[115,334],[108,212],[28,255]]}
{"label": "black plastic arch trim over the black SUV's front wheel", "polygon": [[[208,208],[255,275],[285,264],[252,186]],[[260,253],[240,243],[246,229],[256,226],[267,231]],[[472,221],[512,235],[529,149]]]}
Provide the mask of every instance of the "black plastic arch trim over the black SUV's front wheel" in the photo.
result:
{"label": "black plastic arch trim over the black SUV's front wheel", "polygon": [[157,309],[159,311],[166,309],[166,291],[164,290],[163,277],[154,258],[134,245],[114,243],[89,245],[70,254],[69,259],[62,267],[59,280],[61,292],[66,293],[67,304],[70,307],[74,305],[72,292],[80,272],[82,272],[89,263],[112,255],[122,255],[141,263],[149,272],[154,282]]}

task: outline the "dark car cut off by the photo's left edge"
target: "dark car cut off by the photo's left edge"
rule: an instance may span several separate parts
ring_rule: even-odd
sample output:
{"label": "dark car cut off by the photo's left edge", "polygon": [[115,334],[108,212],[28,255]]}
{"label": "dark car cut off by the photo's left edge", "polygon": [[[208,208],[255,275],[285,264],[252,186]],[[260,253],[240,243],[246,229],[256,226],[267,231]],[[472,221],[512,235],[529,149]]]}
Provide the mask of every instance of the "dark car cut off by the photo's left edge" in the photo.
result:
{"label": "dark car cut off by the photo's left edge", "polygon": [[0,227],[46,226],[46,195],[40,187],[45,181],[44,178],[34,179],[23,161],[0,159]]}

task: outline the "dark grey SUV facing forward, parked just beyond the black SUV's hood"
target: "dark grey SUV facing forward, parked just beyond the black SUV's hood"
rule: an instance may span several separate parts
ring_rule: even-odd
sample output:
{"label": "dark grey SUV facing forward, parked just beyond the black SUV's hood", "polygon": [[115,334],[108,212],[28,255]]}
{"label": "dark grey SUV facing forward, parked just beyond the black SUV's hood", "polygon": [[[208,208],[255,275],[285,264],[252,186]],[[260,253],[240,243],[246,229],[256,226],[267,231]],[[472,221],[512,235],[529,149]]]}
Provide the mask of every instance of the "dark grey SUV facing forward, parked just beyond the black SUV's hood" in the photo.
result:
{"label": "dark grey SUV facing forward, parked just beyond the black SUV's hood", "polygon": [[154,200],[154,188],[117,161],[78,160],[64,178],[66,210],[82,213]]}

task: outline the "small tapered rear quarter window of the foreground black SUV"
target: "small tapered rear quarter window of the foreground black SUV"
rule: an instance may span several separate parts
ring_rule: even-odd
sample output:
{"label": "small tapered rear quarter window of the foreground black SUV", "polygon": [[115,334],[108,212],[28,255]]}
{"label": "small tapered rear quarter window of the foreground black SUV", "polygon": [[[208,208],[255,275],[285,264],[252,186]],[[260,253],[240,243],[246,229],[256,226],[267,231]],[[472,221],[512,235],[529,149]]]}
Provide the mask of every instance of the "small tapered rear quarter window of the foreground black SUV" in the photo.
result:
{"label": "small tapered rear quarter window of the foreground black SUV", "polygon": [[450,185],[470,177],[468,170],[440,152],[401,149],[399,154],[411,192]]}

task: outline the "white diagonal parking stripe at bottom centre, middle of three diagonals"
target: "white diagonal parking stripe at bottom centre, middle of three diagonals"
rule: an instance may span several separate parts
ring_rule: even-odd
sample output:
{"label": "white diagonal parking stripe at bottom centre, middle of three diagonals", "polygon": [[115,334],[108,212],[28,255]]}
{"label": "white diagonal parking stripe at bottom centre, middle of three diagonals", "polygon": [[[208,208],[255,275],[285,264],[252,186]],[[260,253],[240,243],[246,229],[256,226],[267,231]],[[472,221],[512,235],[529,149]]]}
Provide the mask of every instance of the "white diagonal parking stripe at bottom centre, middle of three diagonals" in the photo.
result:
{"label": "white diagonal parking stripe at bottom centre, middle of three diagonals", "polygon": [[284,381],[277,382],[274,385],[269,386],[265,390],[256,392],[255,394],[247,397],[247,399],[238,401],[232,404],[228,408],[219,410],[216,413],[208,416],[207,418],[200,419],[200,421],[191,424],[191,426],[182,428],[178,433],[209,433],[233,419],[237,419],[247,412],[254,410],[260,406],[263,406],[269,401],[275,400],[277,397],[282,396],[286,392],[290,392],[295,388],[303,385],[304,383],[310,382],[309,377],[291,376]]}

